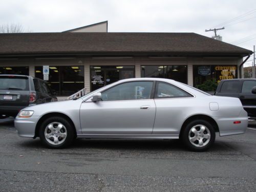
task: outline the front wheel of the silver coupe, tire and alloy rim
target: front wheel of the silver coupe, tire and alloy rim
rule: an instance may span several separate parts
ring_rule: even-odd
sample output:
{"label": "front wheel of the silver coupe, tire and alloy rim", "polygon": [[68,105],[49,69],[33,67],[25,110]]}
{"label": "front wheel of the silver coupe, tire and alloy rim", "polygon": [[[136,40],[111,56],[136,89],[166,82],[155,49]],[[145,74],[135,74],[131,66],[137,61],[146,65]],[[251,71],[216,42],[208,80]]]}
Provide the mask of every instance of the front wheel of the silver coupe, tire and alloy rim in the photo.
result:
{"label": "front wheel of the silver coupe, tire and alloy rim", "polygon": [[49,148],[64,148],[75,138],[74,126],[63,117],[50,117],[39,128],[41,143]]}

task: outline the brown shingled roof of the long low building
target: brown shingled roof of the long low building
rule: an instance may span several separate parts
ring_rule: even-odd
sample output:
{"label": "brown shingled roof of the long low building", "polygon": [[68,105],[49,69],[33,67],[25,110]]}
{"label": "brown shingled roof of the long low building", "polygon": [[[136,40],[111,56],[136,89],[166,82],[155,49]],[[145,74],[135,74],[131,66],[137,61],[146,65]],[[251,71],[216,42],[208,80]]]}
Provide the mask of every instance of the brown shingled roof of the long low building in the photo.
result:
{"label": "brown shingled roof of the long low building", "polygon": [[2,33],[0,56],[30,54],[231,54],[252,51],[196,33]]}

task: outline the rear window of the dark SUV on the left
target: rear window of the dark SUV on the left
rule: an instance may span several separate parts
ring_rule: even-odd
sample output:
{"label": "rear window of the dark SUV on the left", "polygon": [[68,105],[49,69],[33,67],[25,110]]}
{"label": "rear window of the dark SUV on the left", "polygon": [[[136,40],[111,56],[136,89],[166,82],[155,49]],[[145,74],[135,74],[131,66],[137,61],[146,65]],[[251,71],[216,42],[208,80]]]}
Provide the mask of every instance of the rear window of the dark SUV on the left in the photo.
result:
{"label": "rear window of the dark SUV on the left", "polygon": [[0,90],[28,91],[28,77],[0,76]]}

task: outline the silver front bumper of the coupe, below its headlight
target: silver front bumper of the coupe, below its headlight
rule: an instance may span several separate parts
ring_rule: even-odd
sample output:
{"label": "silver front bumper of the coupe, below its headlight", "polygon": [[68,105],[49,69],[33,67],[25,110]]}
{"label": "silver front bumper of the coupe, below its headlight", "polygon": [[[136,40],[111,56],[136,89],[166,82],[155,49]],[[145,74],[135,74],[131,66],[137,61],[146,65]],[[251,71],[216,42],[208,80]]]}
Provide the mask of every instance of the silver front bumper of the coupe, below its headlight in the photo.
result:
{"label": "silver front bumper of the coupe, below its headlight", "polygon": [[40,116],[32,116],[30,118],[16,117],[14,120],[14,126],[18,131],[20,137],[34,137],[35,127]]}

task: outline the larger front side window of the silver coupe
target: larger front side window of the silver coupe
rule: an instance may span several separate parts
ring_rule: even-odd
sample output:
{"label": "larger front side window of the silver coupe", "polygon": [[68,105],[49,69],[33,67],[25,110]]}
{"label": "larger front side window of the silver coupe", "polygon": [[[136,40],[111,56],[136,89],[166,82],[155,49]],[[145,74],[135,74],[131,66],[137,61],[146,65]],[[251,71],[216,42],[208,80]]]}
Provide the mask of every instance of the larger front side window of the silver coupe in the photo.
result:
{"label": "larger front side window of the silver coupe", "polygon": [[153,81],[119,84],[101,93],[102,101],[150,99]]}

